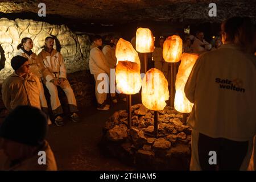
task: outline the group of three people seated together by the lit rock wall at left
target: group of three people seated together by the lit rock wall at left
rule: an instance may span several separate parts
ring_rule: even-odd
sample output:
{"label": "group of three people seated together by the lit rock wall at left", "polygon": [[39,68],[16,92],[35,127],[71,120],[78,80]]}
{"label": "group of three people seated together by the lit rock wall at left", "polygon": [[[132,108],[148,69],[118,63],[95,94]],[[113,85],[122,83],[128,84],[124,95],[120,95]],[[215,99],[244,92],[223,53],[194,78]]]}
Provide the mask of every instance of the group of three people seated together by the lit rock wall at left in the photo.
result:
{"label": "group of three people seated together by the lit rock wall at left", "polygon": [[[23,38],[15,56],[11,59],[13,74],[2,84],[2,98],[7,110],[14,110],[19,105],[30,105],[42,109],[49,116],[44,87],[51,96],[51,109],[57,126],[64,125],[63,109],[58,97],[57,86],[64,90],[73,122],[79,121],[75,94],[67,80],[63,56],[53,48],[54,38],[48,36],[39,55],[32,52],[31,38]],[[51,120],[48,117],[48,123]]]}

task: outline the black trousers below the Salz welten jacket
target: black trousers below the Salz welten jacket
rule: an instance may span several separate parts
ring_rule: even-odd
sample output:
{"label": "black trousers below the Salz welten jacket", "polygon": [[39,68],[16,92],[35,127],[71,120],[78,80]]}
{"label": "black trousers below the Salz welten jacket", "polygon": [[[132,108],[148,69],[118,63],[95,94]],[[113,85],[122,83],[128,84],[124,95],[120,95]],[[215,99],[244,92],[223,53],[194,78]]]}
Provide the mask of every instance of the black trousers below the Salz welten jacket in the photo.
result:
{"label": "black trousers below the Salz welten jacket", "polygon": [[[237,142],[225,138],[211,138],[199,133],[198,155],[202,170],[239,170],[247,154],[249,142]],[[209,164],[209,151],[215,151],[217,164]]]}

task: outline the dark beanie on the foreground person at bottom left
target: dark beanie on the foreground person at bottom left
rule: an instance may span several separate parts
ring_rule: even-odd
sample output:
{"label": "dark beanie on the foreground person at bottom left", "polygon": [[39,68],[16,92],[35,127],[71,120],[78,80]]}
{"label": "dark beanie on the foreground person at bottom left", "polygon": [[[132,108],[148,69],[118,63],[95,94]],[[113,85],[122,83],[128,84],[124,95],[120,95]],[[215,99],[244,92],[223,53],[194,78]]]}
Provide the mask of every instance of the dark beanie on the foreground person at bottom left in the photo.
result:
{"label": "dark beanie on the foreground person at bottom left", "polygon": [[47,133],[47,117],[32,106],[16,107],[0,126],[0,137],[29,146],[40,146]]}

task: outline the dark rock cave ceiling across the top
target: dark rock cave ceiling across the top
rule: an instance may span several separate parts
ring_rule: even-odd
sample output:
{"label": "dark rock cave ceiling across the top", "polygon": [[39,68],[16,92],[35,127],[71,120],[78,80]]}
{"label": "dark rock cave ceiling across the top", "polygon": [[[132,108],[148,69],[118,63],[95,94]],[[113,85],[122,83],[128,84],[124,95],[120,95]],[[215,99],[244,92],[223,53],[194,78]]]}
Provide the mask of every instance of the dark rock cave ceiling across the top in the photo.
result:
{"label": "dark rock cave ceiling across the top", "polygon": [[[221,22],[231,16],[250,16],[255,21],[256,1],[222,0],[62,0],[0,1],[1,15],[30,13],[46,4],[47,17],[77,23],[122,24],[127,22]],[[217,5],[217,16],[208,15],[209,3]],[[26,13],[24,13],[26,12]],[[46,17],[46,18],[47,18]],[[38,17],[35,17],[35,19]]]}

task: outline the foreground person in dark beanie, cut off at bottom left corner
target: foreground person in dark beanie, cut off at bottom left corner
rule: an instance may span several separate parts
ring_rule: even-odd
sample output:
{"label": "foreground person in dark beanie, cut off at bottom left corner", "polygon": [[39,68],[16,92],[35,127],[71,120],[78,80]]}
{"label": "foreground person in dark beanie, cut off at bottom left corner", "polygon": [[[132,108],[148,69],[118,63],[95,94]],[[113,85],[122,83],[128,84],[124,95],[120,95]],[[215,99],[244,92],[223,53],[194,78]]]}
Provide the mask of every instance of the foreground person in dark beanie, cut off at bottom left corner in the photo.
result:
{"label": "foreground person in dark beanie, cut off at bottom left corner", "polygon": [[38,108],[18,106],[11,111],[0,126],[0,148],[7,156],[2,170],[56,171],[47,129],[47,115]]}

